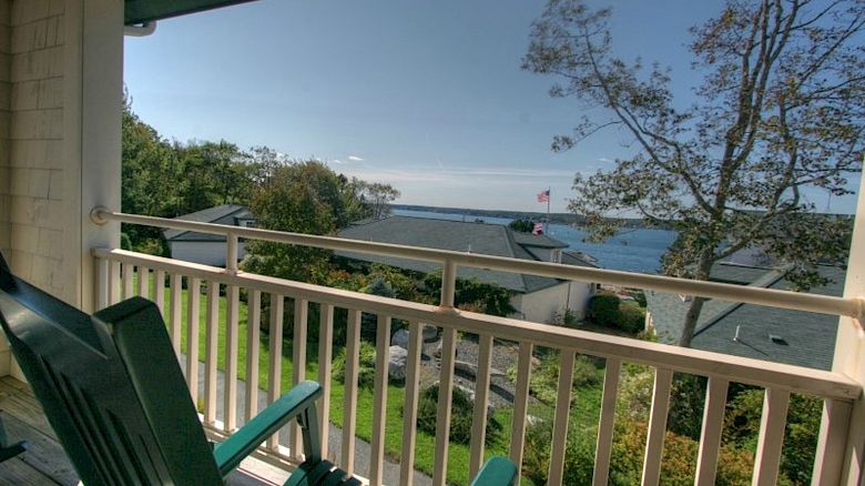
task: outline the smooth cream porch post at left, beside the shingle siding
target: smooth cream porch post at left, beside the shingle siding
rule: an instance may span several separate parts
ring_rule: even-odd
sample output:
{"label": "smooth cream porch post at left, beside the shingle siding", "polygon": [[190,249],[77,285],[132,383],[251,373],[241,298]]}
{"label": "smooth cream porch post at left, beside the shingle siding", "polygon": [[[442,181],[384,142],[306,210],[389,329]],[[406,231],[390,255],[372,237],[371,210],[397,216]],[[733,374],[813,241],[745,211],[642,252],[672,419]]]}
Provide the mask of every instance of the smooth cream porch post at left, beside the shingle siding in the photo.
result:
{"label": "smooth cream porch post at left, beside the shingle siding", "polygon": [[120,244],[120,224],[95,225],[90,210],[120,210],[123,0],[68,0],[65,22],[63,139],[72,169],[67,221],[77,226],[70,227],[75,237],[68,245],[68,282],[75,304],[92,311],[96,274],[90,250]]}

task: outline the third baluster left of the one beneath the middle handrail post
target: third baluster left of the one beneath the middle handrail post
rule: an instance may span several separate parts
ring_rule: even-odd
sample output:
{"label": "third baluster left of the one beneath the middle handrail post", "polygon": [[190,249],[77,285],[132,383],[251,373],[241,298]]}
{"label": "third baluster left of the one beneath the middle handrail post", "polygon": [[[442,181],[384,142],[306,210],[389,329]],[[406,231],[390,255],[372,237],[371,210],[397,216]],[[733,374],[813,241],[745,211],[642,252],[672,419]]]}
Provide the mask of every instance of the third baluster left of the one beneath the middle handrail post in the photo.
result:
{"label": "third baluster left of the one beneath the middle handrail post", "polygon": [[355,427],[357,426],[357,372],[360,360],[360,311],[348,310],[345,337],[345,401],[343,403],[343,470],[355,469]]}

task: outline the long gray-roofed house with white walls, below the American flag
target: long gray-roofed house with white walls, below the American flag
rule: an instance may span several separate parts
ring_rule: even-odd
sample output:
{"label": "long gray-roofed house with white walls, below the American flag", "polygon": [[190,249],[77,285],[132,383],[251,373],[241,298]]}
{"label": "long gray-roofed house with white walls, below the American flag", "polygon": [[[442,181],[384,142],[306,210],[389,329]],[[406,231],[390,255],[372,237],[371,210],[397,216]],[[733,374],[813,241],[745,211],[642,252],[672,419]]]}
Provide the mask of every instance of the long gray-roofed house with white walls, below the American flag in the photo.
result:
{"label": "long gray-roofed house with white walls, below the American flag", "polygon": [[[554,262],[576,266],[594,266],[579,253],[563,252],[567,243],[546,236],[518,233],[499,224],[460,222],[427,217],[390,216],[364,224],[353,224],[339,233],[350,240],[424,246],[529,261]],[[429,273],[440,265],[385,255],[336,252],[338,256],[369,263],[381,263],[419,273]],[[498,285],[511,292],[511,305],[517,317],[550,322],[556,314],[570,310],[582,318],[594,292],[594,284],[561,281],[545,276],[459,267],[458,279],[474,279]]]}

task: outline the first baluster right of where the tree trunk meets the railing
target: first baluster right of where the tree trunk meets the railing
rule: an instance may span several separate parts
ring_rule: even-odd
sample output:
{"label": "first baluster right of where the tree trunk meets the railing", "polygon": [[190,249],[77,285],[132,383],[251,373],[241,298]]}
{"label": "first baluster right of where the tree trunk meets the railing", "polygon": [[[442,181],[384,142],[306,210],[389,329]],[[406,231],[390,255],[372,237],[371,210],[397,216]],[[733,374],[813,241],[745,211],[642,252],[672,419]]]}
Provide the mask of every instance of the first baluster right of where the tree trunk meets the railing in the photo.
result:
{"label": "first baluster right of where the tree trunk meets the railing", "polygon": [[711,486],[715,484],[718,452],[721,447],[721,432],[724,428],[726,391],[730,382],[711,376],[705,391],[703,407],[703,431],[700,434],[700,453],[696,456],[696,476],[694,484]]}

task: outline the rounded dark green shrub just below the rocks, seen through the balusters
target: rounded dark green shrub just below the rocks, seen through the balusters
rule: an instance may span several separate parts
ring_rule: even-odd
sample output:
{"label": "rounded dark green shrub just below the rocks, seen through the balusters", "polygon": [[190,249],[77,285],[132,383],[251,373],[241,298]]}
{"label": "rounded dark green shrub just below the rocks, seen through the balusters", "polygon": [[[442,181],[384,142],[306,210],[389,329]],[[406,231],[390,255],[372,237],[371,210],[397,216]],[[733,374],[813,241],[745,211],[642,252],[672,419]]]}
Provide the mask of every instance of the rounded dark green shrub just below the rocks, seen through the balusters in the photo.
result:
{"label": "rounded dark green shrub just below the rocks, seen through the balusters", "polygon": [[[438,383],[420,392],[417,406],[417,427],[429,434],[436,434],[436,424],[438,407]],[[469,394],[457,386],[450,399],[450,441],[469,444],[471,442],[471,424],[475,414],[475,404]],[[503,426],[492,417],[487,415],[487,445],[495,443]]]}

